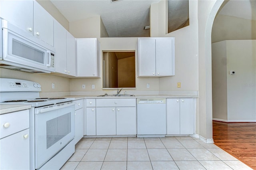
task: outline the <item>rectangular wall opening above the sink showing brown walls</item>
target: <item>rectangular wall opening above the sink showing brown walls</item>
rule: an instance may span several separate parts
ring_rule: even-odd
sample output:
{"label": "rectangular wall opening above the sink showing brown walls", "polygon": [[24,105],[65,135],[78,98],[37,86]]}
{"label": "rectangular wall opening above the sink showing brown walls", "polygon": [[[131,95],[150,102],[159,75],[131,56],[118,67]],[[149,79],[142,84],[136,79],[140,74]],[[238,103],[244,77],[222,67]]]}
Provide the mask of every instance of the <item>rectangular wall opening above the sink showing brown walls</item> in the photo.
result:
{"label": "rectangular wall opening above the sink showing brown walls", "polygon": [[103,88],[135,88],[135,51],[103,51]]}

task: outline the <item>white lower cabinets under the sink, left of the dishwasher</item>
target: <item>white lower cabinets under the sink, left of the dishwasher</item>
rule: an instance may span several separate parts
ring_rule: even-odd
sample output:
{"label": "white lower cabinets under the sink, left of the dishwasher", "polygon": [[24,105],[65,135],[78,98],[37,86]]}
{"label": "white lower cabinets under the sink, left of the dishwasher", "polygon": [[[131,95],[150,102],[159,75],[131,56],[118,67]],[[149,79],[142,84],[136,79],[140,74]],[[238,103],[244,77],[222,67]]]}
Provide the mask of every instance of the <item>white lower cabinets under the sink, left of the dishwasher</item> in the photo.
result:
{"label": "white lower cabinets under the sink, left of the dishwasher", "polygon": [[136,99],[86,99],[86,135],[136,135]]}

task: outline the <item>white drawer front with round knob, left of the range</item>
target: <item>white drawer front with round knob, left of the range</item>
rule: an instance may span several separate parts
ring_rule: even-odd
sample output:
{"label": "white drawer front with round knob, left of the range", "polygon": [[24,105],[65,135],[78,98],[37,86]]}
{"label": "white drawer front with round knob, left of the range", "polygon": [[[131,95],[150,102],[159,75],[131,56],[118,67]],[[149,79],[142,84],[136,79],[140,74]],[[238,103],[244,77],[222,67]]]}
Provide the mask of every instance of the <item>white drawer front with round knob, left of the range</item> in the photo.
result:
{"label": "white drawer front with round knob, left of the range", "polygon": [[29,128],[29,110],[0,115],[0,138]]}

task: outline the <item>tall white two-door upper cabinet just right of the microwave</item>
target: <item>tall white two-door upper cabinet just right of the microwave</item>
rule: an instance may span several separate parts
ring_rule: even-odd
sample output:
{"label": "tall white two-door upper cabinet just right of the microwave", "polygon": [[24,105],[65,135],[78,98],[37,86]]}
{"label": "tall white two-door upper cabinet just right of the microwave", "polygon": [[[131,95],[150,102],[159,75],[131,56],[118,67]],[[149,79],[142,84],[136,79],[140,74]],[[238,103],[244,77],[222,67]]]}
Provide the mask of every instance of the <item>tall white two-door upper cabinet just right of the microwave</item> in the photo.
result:
{"label": "tall white two-door upper cabinet just right of the microwave", "polygon": [[55,71],[76,76],[76,40],[54,20]]}

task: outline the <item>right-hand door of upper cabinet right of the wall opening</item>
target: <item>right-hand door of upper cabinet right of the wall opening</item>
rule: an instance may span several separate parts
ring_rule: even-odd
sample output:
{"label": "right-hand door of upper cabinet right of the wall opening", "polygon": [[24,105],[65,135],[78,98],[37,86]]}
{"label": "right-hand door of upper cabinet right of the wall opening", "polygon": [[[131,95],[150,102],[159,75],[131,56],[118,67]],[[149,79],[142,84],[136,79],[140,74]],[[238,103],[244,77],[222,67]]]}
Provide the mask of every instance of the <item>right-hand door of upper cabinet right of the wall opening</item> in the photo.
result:
{"label": "right-hand door of upper cabinet right of the wall opening", "polygon": [[173,75],[172,38],[156,39],[156,76]]}

